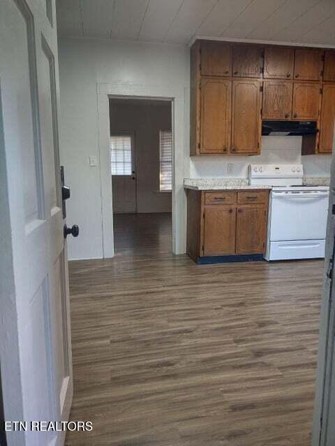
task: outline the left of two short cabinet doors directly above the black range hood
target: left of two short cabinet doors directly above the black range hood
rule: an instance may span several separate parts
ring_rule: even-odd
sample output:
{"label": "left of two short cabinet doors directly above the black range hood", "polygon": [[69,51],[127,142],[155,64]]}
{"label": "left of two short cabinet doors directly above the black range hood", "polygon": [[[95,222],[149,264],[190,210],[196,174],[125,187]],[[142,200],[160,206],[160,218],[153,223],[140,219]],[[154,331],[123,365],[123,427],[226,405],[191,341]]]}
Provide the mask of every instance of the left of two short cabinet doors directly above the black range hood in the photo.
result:
{"label": "left of two short cabinet doors directly above the black range hood", "polygon": [[292,82],[265,81],[263,83],[263,119],[291,119]]}

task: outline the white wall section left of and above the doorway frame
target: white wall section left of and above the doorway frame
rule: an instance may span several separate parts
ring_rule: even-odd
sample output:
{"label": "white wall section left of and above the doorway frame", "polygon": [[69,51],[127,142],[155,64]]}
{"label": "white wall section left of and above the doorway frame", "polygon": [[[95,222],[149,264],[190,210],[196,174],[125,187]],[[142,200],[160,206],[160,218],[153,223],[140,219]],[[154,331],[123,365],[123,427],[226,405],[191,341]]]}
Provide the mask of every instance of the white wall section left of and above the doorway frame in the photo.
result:
{"label": "white wall section left of and above the doorway frame", "polygon": [[[67,221],[80,226],[78,238],[68,237],[70,259],[103,256],[99,168],[89,167],[89,155],[98,157],[97,83],[171,85],[186,89],[187,94],[188,63],[187,47],[60,39],[61,162],[71,187]],[[187,141],[188,125],[183,128],[182,138]]]}

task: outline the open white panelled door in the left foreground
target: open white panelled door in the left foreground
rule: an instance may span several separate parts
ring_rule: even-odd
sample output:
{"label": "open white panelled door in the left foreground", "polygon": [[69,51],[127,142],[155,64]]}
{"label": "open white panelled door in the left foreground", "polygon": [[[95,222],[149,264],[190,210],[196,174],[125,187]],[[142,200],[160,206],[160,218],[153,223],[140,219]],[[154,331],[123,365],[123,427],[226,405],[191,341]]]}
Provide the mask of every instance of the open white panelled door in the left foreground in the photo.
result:
{"label": "open white panelled door in the left foreground", "polygon": [[[54,0],[0,1],[0,362],[6,420],[68,419],[73,394]],[[9,446],[64,443],[8,431]]]}

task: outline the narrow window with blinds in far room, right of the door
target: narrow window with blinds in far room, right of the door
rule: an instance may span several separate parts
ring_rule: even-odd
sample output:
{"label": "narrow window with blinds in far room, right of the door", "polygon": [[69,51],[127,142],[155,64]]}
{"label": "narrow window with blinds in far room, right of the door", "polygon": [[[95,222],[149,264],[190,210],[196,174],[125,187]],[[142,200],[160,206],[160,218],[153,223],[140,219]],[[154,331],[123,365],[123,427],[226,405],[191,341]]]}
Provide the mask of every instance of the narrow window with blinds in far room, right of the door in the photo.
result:
{"label": "narrow window with blinds in far room, right of the door", "polygon": [[160,175],[159,190],[172,191],[172,132],[159,132]]}

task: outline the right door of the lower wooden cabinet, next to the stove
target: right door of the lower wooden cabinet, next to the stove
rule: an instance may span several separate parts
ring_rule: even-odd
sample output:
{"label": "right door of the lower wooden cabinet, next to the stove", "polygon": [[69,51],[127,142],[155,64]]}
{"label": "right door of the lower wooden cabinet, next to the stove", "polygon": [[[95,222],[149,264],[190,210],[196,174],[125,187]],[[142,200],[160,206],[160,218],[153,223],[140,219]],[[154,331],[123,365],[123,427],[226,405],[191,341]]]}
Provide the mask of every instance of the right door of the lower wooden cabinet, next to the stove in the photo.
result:
{"label": "right door of the lower wooden cabinet, next to the stove", "polygon": [[261,254],[265,250],[267,211],[261,206],[237,208],[236,254]]}

